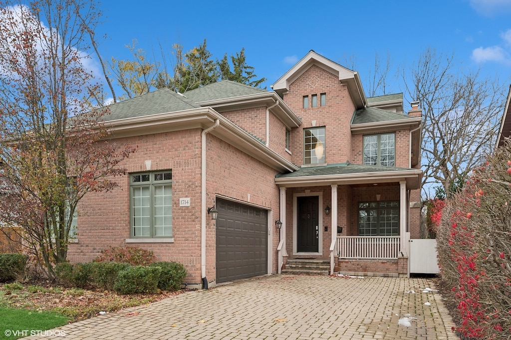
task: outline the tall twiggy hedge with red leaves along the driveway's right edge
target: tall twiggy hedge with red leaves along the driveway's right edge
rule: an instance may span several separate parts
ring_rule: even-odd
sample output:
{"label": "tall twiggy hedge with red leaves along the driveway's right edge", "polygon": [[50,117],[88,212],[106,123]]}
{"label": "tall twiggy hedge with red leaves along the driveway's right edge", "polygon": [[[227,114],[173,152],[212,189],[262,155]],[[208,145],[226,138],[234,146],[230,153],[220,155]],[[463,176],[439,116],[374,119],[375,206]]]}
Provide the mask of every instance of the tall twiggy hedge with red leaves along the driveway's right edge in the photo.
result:
{"label": "tall twiggy hedge with red leaves along the driveway's right edge", "polygon": [[470,338],[511,337],[510,168],[507,140],[446,201],[437,230],[440,273],[462,320],[457,331]]}

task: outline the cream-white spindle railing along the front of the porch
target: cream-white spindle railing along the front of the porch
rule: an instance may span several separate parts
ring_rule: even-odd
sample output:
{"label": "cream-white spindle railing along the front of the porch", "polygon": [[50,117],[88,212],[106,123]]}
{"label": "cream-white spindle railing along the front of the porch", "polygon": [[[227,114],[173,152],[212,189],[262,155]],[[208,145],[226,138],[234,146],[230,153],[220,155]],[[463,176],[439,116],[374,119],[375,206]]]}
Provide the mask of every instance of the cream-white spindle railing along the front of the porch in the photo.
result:
{"label": "cream-white spindle railing along the front of the porch", "polygon": [[338,236],[339,258],[397,259],[400,236]]}

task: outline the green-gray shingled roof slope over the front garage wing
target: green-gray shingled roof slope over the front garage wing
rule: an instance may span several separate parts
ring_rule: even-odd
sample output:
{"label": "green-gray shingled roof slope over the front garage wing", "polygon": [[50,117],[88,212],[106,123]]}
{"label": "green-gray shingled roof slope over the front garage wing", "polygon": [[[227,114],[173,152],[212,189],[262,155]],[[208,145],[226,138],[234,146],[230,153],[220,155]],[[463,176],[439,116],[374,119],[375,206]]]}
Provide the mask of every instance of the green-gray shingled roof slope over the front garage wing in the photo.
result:
{"label": "green-gray shingled roof slope over the front garage wing", "polygon": [[189,110],[200,108],[200,105],[168,88],[162,88],[107,107],[110,114],[105,116],[105,120],[109,121]]}

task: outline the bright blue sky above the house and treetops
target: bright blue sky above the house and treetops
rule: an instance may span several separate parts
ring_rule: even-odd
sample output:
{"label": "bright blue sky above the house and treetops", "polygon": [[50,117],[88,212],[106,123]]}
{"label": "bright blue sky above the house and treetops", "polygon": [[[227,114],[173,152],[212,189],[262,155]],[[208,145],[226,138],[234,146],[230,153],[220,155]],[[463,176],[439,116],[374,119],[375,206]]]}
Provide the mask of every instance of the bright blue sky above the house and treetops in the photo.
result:
{"label": "bright blue sky above the house and treetops", "polygon": [[[103,57],[130,58],[126,44],[159,53],[188,51],[207,39],[214,58],[245,48],[246,61],[270,85],[309,50],[341,65],[354,56],[362,82],[375,54],[392,69],[410,67],[426,48],[454,53],[456,66],[511,82],[511,0],[336,1],[313,3],[125,0],[102,3],[97,35]],[[398,83],[391,92],[405,92]],[[405,105],[406,107],[406,105]]]}

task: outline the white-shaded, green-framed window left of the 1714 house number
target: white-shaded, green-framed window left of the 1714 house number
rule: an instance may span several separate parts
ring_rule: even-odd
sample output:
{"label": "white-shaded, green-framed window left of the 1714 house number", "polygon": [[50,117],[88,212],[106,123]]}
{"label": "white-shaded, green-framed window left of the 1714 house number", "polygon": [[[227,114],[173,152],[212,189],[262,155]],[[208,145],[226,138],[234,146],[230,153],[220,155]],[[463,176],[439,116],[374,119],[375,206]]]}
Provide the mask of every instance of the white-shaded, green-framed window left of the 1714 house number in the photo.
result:
{"label": "white-shaded, green-framed window left of the 1714 house number", "polygon": [[172,236],[172,172],[130,175],[131,236]]}

